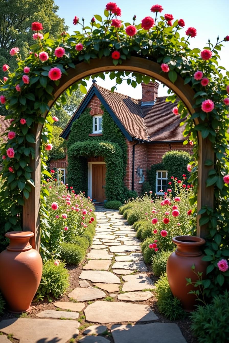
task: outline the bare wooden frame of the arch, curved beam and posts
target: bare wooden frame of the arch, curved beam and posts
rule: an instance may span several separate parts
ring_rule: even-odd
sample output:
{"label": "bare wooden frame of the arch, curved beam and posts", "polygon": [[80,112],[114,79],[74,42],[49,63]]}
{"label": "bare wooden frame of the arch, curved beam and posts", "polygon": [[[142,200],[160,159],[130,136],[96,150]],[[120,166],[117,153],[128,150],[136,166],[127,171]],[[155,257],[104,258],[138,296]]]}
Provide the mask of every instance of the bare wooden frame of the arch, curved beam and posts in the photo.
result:
{"label": "bare wooden frame of the arch, curved beam and posts", "polygon": [[[184,80],[178,76],[175,84],[173,84],[168,75],[161,73],[161,67],[158,63],[150,61],[146,58],[131,57],[122,64],[114,66],[111,58],[103,57],[102,59],[93,59],[90,63],[78,63],[75,69],[69,69],[68,75],[62,76],[60,84],[56,87],[53,94],[53,100],[48,103],[51,106],[55,103],[57,98],[73,83],[92,74],[98,74],[105,71],[133,71],[150,76],[164,83],[166,86],[178,95],[183,101],[188,111],[193,114],[195,110],[193,106],[195,100],[193,99],[195,92],[188,84],[184,84]],[[195,125],[201,123],[199,119],[194,119]],[[33,168],[32,179],[34,180],[35,188],[32,188],[30,197],[25,201],[23,206],[23,229],[34,232],[35,236],[31,242],[33,247],[39,249],[39,207],[40,207],[40,185],[41,185],[41,158],[40,158],[40,142],[41,142],[42,126],[38,125],[35,132],[36,144],[33,144],[35,149],[35,159],[31,160],[31,167]],[[214,161],[214,150],[211,142],[206,138],[203,139],[201,133],[198,132],[198,191],[197,191],[197,212],[202,206],[214,206],[214,186],[206,188],[206,180],[209,169],[213,166],[205,166],[206,159]],[[199,218],[197,216],[197,236],[205,237],[208,233],[207,224],[200,226]]]}

